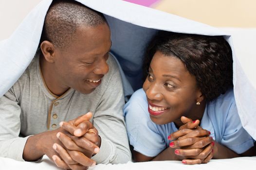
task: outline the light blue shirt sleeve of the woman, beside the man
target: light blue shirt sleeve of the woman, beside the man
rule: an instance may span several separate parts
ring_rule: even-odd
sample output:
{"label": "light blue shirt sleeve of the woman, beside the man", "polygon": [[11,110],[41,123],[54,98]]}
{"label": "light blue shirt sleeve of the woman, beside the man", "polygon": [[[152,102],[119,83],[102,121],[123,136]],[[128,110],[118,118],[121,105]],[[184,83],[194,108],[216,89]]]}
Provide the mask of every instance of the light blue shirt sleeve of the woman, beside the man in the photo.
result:
{"label": "light blue shirt sleeve of the woman, beside the man", "polygon": [[154,157],[161,153],[166,146],[157,125],[149,117],[147,107],[145,92],[143,89],[139,89],[126,103],[124,115],[130,145],[135,151]]}

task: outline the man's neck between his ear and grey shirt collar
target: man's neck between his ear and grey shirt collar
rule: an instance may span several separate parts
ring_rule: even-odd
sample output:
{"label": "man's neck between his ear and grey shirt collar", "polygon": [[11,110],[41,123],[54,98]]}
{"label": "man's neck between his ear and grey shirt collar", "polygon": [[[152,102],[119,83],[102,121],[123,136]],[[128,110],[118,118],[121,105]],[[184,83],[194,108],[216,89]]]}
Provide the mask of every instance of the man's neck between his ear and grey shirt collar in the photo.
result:
{"label": "man's neck between his ear and grey shirt collar", "polygon": [[48,63],[43,56],[39,56],[39,69],[45,87],[54,97],[59,97],[69,90],[69,88],[59,85],[60,81],[55,75],[53,64]]}

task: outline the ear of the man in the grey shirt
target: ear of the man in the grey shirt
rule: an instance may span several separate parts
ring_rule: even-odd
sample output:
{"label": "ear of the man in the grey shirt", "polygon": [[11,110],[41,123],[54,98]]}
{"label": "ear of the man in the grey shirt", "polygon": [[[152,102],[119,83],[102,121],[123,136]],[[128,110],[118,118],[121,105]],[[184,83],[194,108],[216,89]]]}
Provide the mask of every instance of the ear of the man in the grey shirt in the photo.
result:
{"label": "ear of the man in the grey shirt", "polygon": [[46,61],[49,63],[55,62],[55,47],[50,41],[43,41],[40,45],[41,51]]}

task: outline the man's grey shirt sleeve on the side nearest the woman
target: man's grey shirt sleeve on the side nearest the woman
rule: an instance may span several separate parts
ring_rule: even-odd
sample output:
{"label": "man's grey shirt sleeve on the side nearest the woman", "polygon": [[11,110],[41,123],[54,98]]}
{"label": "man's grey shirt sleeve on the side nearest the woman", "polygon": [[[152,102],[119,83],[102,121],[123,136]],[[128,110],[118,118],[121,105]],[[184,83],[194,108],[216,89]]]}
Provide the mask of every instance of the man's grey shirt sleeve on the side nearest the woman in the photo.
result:
{"label": "man's grey shirt sleeve on the side nearest the woman", "polygon": [[131,161],[122,110],[124,103],[121,76],[116,68],[93,117],[93,125],[101,136],[100,151],[92,157],[97,164],[118,164]]}

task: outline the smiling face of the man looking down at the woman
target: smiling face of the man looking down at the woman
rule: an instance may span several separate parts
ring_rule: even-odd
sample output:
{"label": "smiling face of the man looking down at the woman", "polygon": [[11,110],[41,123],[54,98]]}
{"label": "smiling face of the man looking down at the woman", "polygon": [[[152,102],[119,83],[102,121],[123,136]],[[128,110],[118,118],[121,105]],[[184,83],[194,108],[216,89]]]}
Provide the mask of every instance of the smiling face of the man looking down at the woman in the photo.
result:
{"label": "smiling face of the man looking down at the woman", "polygon": [[111,47],[107,24],[80,27],[76,38],[64,51],[56,48],[55,75],[61,88],[71,87],[83,94],[91,93],[108,73]]}

